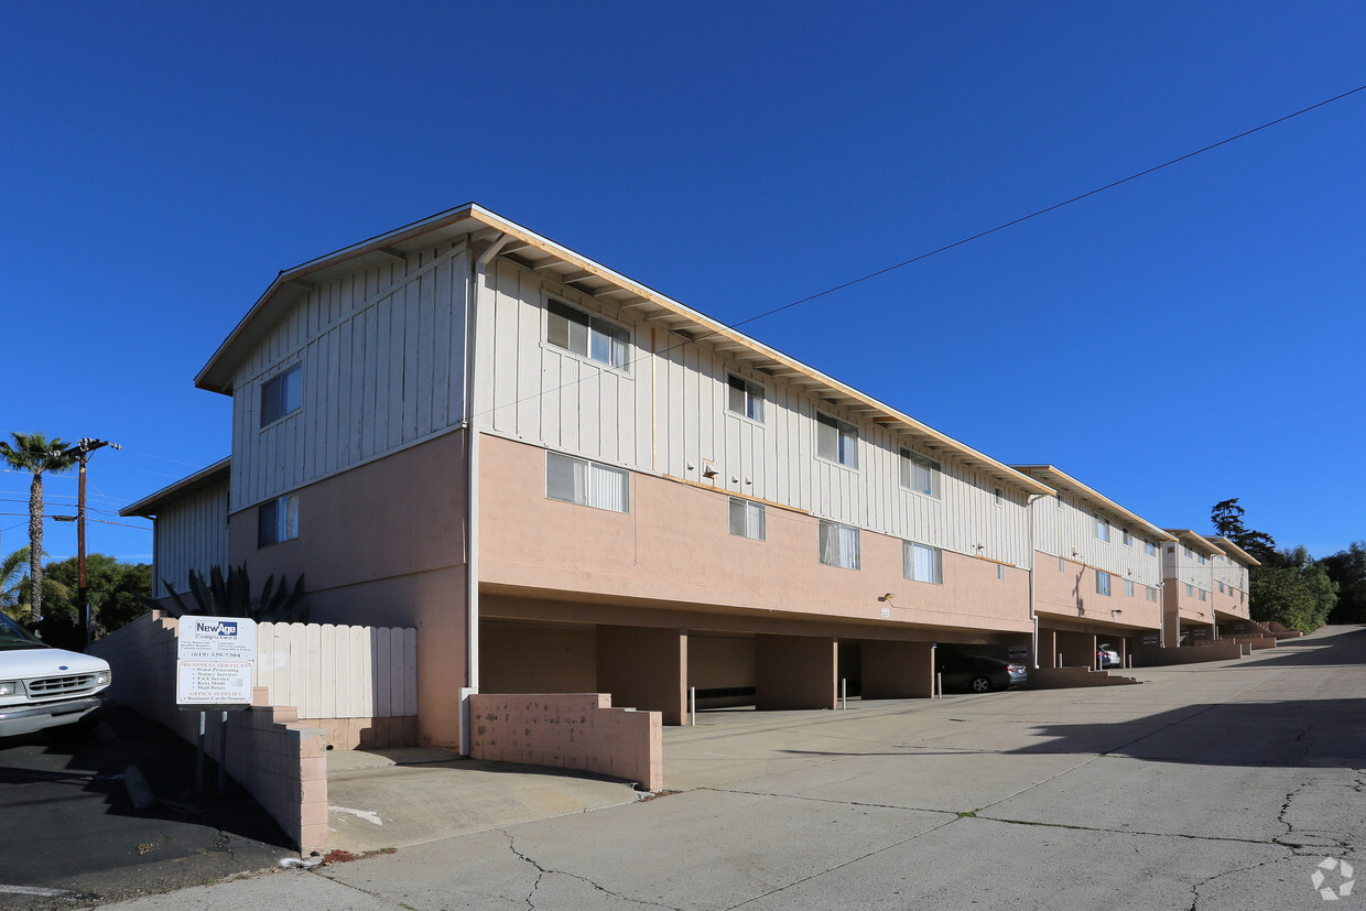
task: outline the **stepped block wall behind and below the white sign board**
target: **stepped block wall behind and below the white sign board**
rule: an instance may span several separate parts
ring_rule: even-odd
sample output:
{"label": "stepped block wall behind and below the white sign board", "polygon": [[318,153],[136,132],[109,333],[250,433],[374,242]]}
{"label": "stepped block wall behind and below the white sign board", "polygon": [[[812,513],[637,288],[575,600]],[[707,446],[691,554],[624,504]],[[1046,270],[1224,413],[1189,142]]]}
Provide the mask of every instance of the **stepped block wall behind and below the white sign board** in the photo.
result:
{"label": "stepped block wall behind and below the white sign board", "polygon": [[[90,654],[113,669],[113,698],[190,743],[198,712],[175,702],[176,627],[158,611],[96,641]],[[258,687],[250,710],[228,713],[224,770],[255,798],[305,854],[326,848],[328,770],[322,731],[299,723],[292,707],[265,705]],[[219,755],[219,725],[208,725],[209,755]]]}

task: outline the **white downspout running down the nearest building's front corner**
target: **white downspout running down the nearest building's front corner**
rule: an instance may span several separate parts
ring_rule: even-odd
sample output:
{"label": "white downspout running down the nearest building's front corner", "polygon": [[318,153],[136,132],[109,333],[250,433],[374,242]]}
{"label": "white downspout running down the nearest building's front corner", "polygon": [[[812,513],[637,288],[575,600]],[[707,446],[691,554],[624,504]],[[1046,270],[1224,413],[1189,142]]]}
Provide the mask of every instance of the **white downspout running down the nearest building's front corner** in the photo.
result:
{"label": "white downspout running down the nearest building's front corner", "polygon": [[460,754],[470,755],[470,697],[479,691],[479,429],[475,426],[478,397],[477,355],[479,350],[479,299],[488,265],[499,255],[508,235],[500,234],[470,268],[470,298],[464,335],[464,688],[460,690]]}

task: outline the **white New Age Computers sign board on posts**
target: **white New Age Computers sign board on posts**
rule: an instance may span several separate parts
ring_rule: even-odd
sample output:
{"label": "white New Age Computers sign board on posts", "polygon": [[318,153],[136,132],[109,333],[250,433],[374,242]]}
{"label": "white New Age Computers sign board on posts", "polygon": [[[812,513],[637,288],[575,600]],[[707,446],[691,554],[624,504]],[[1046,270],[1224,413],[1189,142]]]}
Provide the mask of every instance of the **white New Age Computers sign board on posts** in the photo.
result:
{"label": "white New Age Computers sign board on posts", "polygon": [[178,705],[251,705],[255,620],[183,616],[176,657]]}

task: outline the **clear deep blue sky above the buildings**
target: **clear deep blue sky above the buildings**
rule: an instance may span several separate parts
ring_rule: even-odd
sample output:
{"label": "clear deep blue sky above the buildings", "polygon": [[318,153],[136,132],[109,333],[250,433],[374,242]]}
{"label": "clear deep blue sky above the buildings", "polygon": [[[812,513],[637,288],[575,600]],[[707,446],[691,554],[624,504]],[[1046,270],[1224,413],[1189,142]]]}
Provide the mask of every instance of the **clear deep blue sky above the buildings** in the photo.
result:
{"label": "clear deep blue sky above the buildings", "polygon": [[[0,430],[120,443],[89,548],[135,560],[112,512],[228,453],[195,373],[337,247],[477,201],[739,321],[1366,85],[1359,3],[0,16]],[[1332,553],[1366,538],[1362,149],[1366,92],[744,329],[1156,524],[1240,497]],[[0,550],[26,503],[0,474]]]}

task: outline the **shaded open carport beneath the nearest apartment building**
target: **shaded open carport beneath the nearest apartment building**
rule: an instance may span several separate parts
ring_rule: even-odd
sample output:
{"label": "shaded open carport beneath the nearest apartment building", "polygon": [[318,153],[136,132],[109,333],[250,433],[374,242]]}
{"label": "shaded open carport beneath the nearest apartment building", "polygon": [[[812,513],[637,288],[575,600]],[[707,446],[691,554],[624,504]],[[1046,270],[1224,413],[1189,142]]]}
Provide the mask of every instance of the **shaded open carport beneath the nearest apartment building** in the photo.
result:
{"label": "shaded open carport beneath the nearest apartment building", "polygon": [[934,646],[1007,657],[1029,635],[854,623],[772,612],[481,593],[482,692],[609,692],[612,705],[684,724],[699,709],[833,709],[851,698],[934,694]]}

